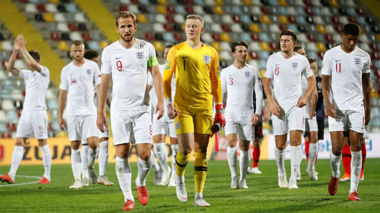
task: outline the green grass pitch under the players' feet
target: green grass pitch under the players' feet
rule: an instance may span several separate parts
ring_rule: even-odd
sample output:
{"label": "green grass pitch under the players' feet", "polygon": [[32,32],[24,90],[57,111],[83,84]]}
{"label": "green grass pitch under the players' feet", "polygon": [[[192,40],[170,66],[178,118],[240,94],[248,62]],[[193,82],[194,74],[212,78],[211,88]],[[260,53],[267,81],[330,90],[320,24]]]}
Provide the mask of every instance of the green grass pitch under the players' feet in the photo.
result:
{"label": "green grass pitch under the players' feet", "polygon": [[[287,176],[290,175],[290,161],[285,161]],[[149,203],[138,202],[136,188],[134,212],[376,212],[380,211],[380,158],[366,160],[364,180],[360,181],[359,202],[348,202],[350,182],[340,182],[337,194],[330,196],[327,191],[331,177],[328,160],[318,160],[316,170],[318,181],[310,181],[306,175],[306,160],[302,160],[302,181],[298,190],[282,189],[277,186],[277,165],[275,161],[260,161],[261,175],[247,175],[248,190],[230,189],[230,170],[226,161],[209,161],[204,198],[209,208],[193,207],[194,163],[188,163],[185,183],[188,202],[180,203],[176,190],[168,186],[154,186],[153,172],[147,179]],[[340,166],[343,172],[343,166]],[[95,164],[98,171],[98,165]],[[137,176],[137,164],[131,163],[132,182]],[[239,169],[239,168],[238,168]],[[9,166],[0,166],[0,174],[8,172]],[[69,190],[74,182],[71,165],[53,165],[52,183],[49,185],[19,185],[0,187],[0,212],[121,212],[123,195],[117,182],[115,165],[109,164],[107,175],[114,186],[92,185],[79,190]],[[43,166],[20,166],[17,175],[40,176]],[[33,182],[36,179],[16,177],[16,183]],[[8,183],[0,183],[6,185]]]}

